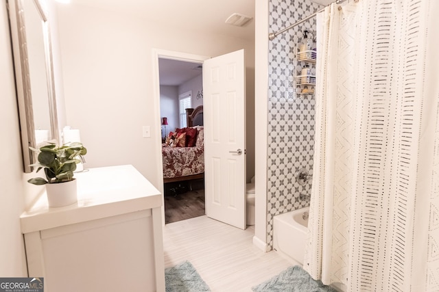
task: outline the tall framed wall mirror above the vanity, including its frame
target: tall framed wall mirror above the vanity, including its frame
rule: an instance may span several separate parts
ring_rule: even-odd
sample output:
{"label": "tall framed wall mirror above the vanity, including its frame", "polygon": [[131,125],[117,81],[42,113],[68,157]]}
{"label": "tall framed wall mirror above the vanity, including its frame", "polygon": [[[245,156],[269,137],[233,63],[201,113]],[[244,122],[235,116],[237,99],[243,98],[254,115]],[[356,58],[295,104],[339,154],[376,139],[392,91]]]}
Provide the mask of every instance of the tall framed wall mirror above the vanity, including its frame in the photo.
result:
{"label": "tall framed wall mirror above the vanity, including its frame", "polygon": [[41,0],[8,0],[21,146],[25,172],[32,172],[29,146],[59,141],[47,9]]}

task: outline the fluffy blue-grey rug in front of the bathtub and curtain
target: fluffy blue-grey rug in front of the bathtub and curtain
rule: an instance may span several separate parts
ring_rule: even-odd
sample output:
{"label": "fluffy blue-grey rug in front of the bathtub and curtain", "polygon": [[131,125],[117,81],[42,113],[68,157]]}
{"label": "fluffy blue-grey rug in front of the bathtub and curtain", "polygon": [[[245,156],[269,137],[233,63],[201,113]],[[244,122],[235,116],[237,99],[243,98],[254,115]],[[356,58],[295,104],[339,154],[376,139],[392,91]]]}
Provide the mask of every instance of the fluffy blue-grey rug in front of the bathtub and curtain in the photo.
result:
{"label": "fluffy blue-grey rug in front of the bathtub and curtain", "polygon": [[307,271],[298,265],[285,269],[281,274],[252,287],[252,290],[254,292],[337,292],[321,281],[313,280]]}

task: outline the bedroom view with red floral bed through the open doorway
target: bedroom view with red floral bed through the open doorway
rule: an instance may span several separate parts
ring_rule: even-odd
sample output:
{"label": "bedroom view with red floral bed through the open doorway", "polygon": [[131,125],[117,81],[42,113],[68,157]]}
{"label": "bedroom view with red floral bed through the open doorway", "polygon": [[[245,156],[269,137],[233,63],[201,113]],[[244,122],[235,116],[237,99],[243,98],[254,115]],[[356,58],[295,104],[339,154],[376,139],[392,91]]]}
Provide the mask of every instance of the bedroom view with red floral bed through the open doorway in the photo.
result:
{"label": "bedroom view with red floral bed through the open doorway", "polygon": [[159,57],[158,72],[163,200],[168,224],[206,213],[202,63]]}

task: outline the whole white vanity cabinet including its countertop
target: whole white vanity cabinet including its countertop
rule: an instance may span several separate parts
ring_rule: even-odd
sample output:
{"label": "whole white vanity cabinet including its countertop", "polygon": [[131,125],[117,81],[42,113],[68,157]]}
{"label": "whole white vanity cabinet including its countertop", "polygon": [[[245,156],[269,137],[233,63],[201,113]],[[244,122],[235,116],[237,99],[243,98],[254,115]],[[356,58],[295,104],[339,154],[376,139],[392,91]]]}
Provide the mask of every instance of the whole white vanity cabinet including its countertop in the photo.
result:
{"label": "whole white vanity cabinet including its countertop", "polygon": [[162,198],[132,165],[75,174],[78,203],[21,215],[29,277],[46,292],[165,291]]}

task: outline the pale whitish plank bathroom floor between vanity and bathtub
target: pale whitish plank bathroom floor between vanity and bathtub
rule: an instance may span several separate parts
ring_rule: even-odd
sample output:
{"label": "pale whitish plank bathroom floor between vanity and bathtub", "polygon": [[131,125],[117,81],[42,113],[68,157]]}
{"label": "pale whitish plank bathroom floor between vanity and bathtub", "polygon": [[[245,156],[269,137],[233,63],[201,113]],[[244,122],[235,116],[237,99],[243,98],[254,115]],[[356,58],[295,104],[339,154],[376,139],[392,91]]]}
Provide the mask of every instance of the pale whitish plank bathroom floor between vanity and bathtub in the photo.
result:
{"label": "pale whitish plank bathroom floor between vanity and bathtub", "polygon": [[212,291],[252,291],[295,263],[253,245],[254,226],[241,230],[200,216],[163,228],[165,267],[189,261]]}

